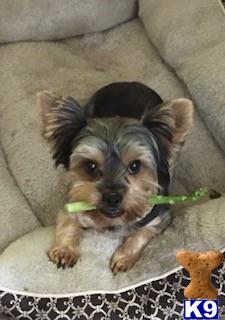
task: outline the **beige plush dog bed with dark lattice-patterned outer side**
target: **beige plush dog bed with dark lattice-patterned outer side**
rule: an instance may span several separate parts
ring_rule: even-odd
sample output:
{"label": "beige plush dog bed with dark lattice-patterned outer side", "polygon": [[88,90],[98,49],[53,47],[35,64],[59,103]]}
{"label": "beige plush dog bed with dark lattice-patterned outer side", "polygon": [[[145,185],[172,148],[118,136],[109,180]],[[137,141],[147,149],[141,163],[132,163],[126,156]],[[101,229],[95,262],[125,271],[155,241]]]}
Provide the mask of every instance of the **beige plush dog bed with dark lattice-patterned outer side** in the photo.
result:
{"label": "beige plush dog bed with dark lattice-patterned outer side", "polygon": [[[57,270],[46,252],[66,183],[41,136],[35,97],[47,89],[82,104],[101,86],[135,80],[164,100],[191,98],[195,123],[171,192],[208,185],[224,194],[225,16],[220,1],[76,0],[46,1],[45,6],[22,1],[18,7],[10,0],[1,6],[0,313],[17,318],[25,312],[27,319],[77,319],[78,314],[81,319],[145,319],[142,312],[153,319],[179,319],[187,276],[176,269],[176,250],[225,246],[224,195],[174,208],[170,227],[126,273],[114,277],[109,268],[125,232],[121,229],[86,232],[78,263]],[[224,288],[219,289],[223,304]]]}

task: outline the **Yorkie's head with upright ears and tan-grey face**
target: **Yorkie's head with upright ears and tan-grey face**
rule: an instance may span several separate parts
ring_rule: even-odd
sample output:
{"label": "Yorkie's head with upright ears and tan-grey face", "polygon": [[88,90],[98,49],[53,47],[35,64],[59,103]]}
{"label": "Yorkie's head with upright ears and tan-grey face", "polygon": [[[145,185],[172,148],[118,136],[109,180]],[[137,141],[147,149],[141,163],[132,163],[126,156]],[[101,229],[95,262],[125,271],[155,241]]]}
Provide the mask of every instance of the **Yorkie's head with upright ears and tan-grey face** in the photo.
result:
{"label": "Yorkie's head with upright ears and tan-grey face", "polygon": [[192,102],[146,108],[141,119],[86,115],[73,98],[38,94],[43,129],[56,166],[71,178],[70,201],[86,201],[107,217],[133,220],[146,199],[167,188],[170,165],[192,125]]}

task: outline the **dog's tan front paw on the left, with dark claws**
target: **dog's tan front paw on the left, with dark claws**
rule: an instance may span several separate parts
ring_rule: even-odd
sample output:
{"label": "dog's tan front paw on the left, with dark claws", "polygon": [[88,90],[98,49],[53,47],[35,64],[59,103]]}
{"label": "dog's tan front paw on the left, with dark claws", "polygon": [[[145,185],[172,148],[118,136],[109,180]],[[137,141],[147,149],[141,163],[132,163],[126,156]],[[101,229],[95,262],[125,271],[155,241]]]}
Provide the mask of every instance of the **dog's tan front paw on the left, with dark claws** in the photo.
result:
{"label": "dog's tan front paw on the left, with dark claws", "polygon": [[79,254],[75,249],[69,247],[55,246],[48,252],[50,261],[54,262],[58,268],[73,267],[77,262]]}

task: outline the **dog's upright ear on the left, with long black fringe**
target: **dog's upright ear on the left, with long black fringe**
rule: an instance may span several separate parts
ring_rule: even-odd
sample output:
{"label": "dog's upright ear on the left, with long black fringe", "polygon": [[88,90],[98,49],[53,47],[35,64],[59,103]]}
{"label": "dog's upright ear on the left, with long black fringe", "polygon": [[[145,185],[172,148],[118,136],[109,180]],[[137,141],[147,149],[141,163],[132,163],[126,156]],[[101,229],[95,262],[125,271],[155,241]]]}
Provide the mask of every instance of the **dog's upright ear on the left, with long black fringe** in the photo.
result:
{"label": "dog's upright ear on the left, with long black fringe", "polygon": [[73,140],[87,123],[84,112],[73,98],[63,98],[48,91],[37,94],[37,104],[55,165],[63,164],[68,169]]}

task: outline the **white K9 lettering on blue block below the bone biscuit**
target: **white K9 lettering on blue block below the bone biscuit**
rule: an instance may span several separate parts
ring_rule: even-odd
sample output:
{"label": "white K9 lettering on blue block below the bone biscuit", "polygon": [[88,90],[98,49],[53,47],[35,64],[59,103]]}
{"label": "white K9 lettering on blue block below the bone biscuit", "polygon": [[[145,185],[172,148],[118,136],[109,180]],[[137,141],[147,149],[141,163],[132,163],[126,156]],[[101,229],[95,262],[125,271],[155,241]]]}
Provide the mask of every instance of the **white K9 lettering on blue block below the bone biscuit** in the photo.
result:
{"label": "white K9 lettering on blue block below the bone biscuit", "polygon": [[184,319],[218,319],[218,300],[184,300]]}

